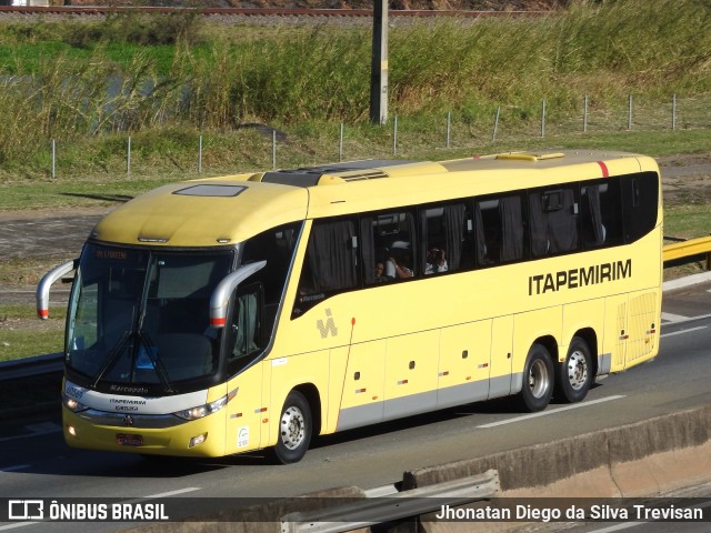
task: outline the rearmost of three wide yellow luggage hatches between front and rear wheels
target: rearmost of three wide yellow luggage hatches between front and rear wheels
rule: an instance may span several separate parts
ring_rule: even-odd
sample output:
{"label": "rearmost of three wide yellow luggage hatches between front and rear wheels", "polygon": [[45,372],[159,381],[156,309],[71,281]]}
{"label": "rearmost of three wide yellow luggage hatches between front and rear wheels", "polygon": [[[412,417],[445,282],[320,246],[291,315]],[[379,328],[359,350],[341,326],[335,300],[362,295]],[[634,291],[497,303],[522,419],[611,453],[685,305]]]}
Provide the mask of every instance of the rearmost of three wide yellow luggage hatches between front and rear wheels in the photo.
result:
{"label": "rearmost of three wide yellow luggage hatches between front and rear wheels", "polygon": [[444,328],[440,339],[437,406],[485,400],[491,370],[491,321]]}

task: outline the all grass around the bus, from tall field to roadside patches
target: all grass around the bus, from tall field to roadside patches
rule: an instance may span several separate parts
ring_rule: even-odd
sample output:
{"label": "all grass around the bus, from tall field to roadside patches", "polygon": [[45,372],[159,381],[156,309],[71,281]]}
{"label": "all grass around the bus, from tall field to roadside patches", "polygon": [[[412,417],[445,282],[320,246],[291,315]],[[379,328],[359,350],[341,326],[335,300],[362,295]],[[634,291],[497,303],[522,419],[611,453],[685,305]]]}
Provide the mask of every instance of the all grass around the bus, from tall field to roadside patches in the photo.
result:
{"label": "all grass around the bus, from tall field to roadside patches", "polygon": [[[277,167],[338,161],[341,123],[344,160],[708,153],[710,23],[705,0],[579,0],[547,18],[395,26],[383,127],[369,123],[369,29],[136,13],[0,24],[0,211],[112,205],[167,181],[270,169],[273,129]],[[693,192],[669,204],[665,233],[705,235],[708,207]],[[34,284],[53,259],[0,260],[0,284]],[[60,349],[61,318],[38,329],[33,313],[0,305],[0,360]]]}

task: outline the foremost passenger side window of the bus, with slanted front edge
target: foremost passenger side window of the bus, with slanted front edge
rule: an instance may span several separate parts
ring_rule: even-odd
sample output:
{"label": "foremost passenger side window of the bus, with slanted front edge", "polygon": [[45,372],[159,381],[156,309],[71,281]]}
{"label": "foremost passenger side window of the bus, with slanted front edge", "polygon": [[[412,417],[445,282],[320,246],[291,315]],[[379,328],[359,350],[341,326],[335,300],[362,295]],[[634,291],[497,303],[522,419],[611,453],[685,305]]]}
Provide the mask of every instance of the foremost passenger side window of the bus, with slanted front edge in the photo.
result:
{"label": "foremost passenger side window of the bus, with slanted front edge", "polygon": [[358,286],[357,242],[351,219],[313,223],[292,318],[332,294]]}

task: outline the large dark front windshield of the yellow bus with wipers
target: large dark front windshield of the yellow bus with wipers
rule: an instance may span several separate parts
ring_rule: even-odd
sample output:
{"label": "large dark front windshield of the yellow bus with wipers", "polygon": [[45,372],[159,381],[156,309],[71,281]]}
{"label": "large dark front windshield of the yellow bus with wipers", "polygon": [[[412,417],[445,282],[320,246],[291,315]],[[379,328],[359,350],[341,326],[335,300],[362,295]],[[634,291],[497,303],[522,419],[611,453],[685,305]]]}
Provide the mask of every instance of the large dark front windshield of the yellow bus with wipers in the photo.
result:
{"label": "large dark front windshield of the yellow bus with wipers", "polygon": [[219,330],[209,301],[234,250],[162,252],[88,243],[70,302],[66,362],[91,386],[176,392],[214,375]]}

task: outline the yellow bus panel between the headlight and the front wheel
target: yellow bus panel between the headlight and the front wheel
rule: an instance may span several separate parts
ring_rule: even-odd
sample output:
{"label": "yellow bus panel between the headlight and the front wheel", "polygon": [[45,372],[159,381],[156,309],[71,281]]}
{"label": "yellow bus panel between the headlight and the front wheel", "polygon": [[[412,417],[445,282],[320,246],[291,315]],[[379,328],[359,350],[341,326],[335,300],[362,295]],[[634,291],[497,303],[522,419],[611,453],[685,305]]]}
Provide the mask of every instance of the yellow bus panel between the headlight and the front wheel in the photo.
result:
{"label": "yellow bus panel between the headlight and the front wheel", "polygon": [[262,369],[257,363],[228,383],[237,395],[227,404],[226,454],[257,450],[261,446]]}

